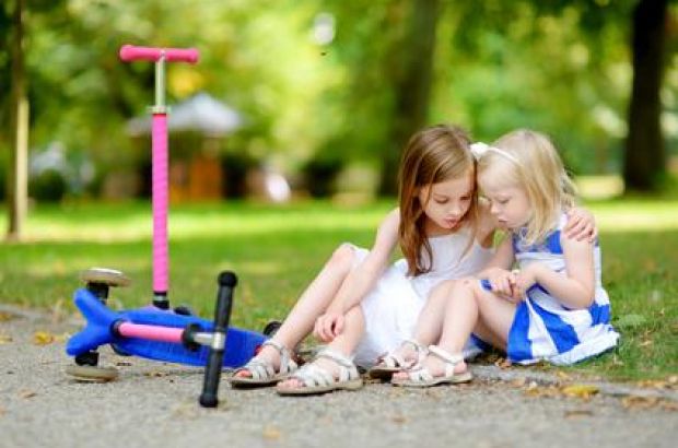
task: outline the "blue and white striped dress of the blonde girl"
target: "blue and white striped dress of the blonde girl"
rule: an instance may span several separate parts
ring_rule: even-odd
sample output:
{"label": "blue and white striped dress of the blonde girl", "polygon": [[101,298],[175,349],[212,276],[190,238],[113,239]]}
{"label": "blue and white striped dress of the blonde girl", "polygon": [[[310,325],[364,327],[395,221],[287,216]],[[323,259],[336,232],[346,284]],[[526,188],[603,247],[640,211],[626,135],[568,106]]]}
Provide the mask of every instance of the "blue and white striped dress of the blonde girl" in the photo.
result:
{"label": "blue and white striped dress of the blonde girl", "polygon": [[[525,232],[513,234],[513,250],[521,269],[539,262],[565,274],[565,259],[560,233],[566,223],[563,214],[559,226],[543,244],[527,246]],[[573,364],[598,355],[617,345],[619,333],[610,325],[610,300],[600,281],[600,247],[594,247],[596,292],[587,309],[569,309],[539,284],[527,291],[508,332],[508,358],[519,364],[541,359],[557,365]]]}

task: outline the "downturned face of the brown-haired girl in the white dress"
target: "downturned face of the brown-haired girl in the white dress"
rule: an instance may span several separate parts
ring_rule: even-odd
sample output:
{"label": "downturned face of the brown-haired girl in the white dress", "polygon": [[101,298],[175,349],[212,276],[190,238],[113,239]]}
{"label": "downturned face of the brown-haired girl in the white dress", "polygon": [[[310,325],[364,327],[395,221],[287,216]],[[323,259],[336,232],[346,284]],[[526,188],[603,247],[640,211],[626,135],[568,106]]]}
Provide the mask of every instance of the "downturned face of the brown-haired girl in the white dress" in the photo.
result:
{"label": "downturned face of the brown-haired girl in the white dress", "polygon": [[435,233],[456,228],[471,204],[474,187],[471,170],[460,178],[422,187],[418,197],[429,219],[426,231]]}

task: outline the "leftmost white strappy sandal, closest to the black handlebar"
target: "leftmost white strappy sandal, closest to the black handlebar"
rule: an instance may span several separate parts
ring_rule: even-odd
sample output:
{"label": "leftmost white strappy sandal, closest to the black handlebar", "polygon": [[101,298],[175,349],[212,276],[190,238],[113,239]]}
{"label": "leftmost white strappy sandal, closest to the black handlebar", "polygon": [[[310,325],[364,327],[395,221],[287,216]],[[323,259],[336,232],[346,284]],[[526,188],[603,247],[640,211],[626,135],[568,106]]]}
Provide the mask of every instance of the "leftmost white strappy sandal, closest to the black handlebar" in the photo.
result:
{"label": "leftmost white strappy sandal, closest to the black handlebar", "polygon": [[[276,382],[288,378],[294,373],[299,366],[292,359],[292,353],[290,350],[279,342],[272,339],[267,340],[261,344],[261,347],[272,346],[280,353],[280,368],[276,372],[276,367],[265,359],[258,359],[256,357],[249,359],[243,367],[236,369],[230,378],[231,386],[233,387],[257,387],[257,386],[272,386]],[[252,374],[250,377],[237,376],[238,372],[247,370]]]}

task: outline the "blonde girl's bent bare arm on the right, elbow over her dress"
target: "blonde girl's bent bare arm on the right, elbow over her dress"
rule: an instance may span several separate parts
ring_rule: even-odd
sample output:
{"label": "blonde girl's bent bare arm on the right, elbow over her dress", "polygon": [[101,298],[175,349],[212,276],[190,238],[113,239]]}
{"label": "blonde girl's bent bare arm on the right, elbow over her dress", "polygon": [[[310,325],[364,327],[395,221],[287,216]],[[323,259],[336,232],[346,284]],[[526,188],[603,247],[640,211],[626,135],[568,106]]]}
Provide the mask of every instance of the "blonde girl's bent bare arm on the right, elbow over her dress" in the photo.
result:
{"label": "blonde girl's bent bare arm on the right, elbow over her dress", "polygon": [[517,275],[517,288],[525,293],[539,283],[561,304],[572,309],[588,308],[595,297],[593,246],[588,241],[561,236],[566,275],[541,263],[534,263]]}

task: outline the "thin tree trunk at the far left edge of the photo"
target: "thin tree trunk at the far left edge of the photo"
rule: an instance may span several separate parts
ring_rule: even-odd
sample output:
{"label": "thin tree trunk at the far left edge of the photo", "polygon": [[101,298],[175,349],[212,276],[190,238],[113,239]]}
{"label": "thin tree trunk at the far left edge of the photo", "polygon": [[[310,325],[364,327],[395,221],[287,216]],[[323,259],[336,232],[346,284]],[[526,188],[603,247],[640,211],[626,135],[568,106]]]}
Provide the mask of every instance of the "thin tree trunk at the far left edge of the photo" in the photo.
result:
{"label": "thin tree trunk at the far left edge of the photo", "polygon": [[22,237],[28,196],[28,101],[24,68],[24,0],[15,0],[12,16],[12,155],[8,176],[9,240]]}

